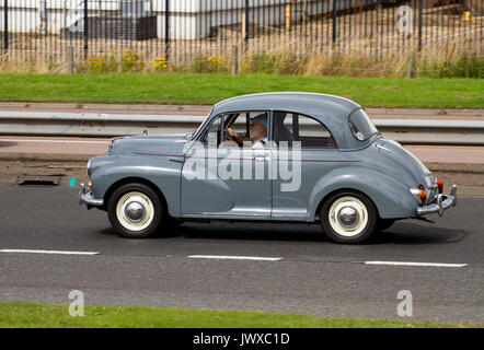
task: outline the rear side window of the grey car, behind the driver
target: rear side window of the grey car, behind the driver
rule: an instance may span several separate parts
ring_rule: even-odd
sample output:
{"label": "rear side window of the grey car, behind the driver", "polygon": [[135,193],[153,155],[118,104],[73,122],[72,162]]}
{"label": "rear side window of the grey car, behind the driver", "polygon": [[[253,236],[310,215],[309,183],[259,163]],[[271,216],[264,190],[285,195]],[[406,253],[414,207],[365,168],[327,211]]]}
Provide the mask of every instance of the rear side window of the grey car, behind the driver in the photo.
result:
{"label": "rear side window of the grey car, behind the driver", "polygon": [[289,145],[293,141],[301,142],[301,148],[324,148],[335,149],[336,143],[319,120],[293,113],[276,112],[274,114],[274,141],[288,141]]}

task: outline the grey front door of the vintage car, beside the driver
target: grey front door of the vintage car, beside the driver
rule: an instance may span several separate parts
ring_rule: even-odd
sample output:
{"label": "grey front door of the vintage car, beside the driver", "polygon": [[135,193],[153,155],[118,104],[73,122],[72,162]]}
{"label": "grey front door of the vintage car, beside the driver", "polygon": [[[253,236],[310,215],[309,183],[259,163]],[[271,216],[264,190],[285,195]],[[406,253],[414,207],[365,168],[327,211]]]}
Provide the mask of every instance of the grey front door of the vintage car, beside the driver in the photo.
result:
{"label": "grey front door of the vintage car, beside the driver", "polygon": [[270,219],[268,147],[240,148],[227,142],[224,132],[232,122],[232,129],[247,133],[251,118],[261,113],[242,112],[215,117],[186,152],[182,170],[183,217]]}

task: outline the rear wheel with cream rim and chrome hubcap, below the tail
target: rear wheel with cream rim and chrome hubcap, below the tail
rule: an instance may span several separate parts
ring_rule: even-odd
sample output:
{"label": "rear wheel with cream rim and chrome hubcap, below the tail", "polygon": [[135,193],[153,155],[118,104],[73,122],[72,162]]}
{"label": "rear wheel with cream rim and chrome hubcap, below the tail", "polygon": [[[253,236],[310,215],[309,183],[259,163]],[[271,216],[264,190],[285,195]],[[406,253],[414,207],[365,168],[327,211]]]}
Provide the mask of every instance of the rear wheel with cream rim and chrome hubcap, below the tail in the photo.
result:
{"label": "rear wheel with cream rim and chrome hubcap, below the tail", "polygon": [[324,202],[320,218],[324,233],[331,241],[357,244],[373,234],[378,213],[372,201],[362,194],[342,191]]}

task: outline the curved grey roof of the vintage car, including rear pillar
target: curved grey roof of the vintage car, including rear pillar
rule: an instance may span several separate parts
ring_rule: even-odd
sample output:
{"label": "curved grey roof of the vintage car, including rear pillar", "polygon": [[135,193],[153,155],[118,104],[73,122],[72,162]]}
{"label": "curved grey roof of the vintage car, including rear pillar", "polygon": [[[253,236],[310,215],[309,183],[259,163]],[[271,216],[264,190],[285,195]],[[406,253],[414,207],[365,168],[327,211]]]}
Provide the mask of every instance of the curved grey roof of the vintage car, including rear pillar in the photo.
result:
{"label": "curved grey roof of the vintage car, including rear pillar", "polygon": [[339,148],[357,148],[358,142],[348,126],[348,116],[361,108],[357,103],[341,96],[307,92],[272,92],[242,95],[219,102],[211,116],[230,112],[280,110],[307,115],[320,120],[333,135]]}

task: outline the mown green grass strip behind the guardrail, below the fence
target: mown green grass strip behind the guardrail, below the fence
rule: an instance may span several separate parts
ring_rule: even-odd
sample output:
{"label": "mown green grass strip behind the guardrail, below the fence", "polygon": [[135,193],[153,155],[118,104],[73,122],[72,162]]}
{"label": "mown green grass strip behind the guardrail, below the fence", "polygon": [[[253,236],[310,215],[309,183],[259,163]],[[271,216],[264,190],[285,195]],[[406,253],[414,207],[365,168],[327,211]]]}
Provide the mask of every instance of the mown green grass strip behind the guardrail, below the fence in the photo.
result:
{"label": "mown green grass strip behind the guardrail, below the fence", "polygon": [[484,107],[482,79],[0,73],[0,101],[214,104],[272,91],[335,94],[366,107]]}

